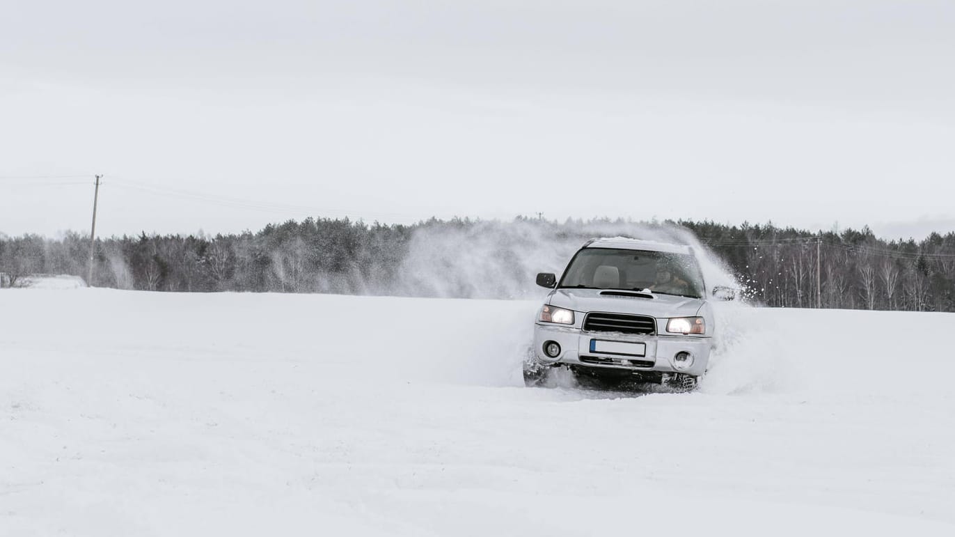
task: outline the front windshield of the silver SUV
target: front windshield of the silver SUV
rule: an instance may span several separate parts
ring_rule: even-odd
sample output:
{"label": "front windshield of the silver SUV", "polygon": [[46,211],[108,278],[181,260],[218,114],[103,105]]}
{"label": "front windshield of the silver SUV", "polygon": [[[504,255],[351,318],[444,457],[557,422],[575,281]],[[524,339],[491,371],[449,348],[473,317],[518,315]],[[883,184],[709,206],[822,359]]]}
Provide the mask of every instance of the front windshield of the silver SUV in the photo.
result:
{"label": "front windshield of the silver SUV", "polygon": [[584,248],[570,261],[559,288],[651,290],[703,296],[703,276],[690,254]]}

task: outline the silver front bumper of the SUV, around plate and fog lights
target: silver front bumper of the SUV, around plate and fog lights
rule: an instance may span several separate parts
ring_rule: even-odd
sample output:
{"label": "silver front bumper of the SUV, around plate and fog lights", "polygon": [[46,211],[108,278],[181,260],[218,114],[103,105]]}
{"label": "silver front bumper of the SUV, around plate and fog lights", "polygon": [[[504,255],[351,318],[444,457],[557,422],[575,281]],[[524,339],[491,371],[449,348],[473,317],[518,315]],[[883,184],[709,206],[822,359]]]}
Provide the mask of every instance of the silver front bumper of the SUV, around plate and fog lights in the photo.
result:
{"label": "silver front bumper of the SUV, around plate and fog lights", "polygon": [[[643,356],[606,354],[591,351],[591,340],[644,343]],[[555,341],[561,346],[556,357],[544,354],[544,344]],[[534,353],[544,364],[567,364],[631,371],[658,371],[702,376],[710,363],[712,337],[690,335],[630,335],[624,333],[584,332],[579,328],[538,323],[534,327]],[[674,356],[690,353],[693,364],[684,370],[673,366]]]}

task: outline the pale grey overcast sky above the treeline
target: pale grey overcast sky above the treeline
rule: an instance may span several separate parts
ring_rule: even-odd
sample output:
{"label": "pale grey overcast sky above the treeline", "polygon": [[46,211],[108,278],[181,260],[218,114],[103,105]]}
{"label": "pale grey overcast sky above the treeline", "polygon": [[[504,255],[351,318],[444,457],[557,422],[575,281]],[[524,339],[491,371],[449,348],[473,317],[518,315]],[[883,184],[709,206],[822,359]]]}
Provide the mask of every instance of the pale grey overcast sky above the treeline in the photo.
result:
{"label": "pale grey overcast sky above the treeline", "polygon": [[[0,232],[955,229],[955,2],[6,2]],[[75,176],[75,177],[74,177]]]}

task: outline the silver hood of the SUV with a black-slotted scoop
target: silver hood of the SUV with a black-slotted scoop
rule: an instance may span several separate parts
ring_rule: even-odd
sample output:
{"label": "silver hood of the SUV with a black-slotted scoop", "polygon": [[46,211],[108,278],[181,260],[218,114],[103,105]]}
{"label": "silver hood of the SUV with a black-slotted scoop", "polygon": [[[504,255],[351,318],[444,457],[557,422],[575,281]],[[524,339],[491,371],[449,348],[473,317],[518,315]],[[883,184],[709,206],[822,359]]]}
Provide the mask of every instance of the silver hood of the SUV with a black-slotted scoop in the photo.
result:
{"label": "silver hood of the SUV with a black-slotted scoop", "polygon": [[548,303],[567,310],[590,312],[610,311],[635,313],[653,317],[689,317],[695,315],[704,300],[671,294],[654,294],[653,298],[638,296],[602,295],[599,289],[559,289],[550,295]]}

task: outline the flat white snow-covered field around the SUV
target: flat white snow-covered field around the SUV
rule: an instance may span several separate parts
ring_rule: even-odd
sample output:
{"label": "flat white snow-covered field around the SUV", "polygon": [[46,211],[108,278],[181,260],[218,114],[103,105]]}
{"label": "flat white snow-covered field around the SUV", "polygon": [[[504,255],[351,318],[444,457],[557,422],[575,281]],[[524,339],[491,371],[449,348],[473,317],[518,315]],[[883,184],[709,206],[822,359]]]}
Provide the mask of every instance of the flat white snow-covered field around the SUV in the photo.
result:
{"label": "flat white snow-covered field around the SUV", "polygon": [[640,395],[524,388],[537,308],[0,290],[0,535],[955,535],[955,315],[728,305]]}

